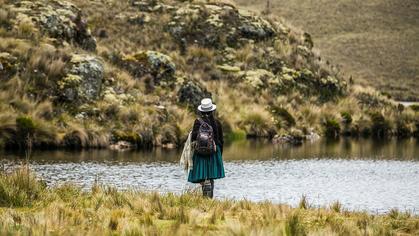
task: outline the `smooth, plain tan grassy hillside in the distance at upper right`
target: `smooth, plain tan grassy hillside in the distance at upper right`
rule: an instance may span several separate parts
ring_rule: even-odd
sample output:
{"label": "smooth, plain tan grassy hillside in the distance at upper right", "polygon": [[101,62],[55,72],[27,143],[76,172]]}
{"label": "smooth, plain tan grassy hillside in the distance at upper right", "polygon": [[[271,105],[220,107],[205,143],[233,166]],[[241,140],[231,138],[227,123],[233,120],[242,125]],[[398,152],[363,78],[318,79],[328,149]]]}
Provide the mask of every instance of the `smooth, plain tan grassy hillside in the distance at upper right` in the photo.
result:
{"label": "smooth, plain tan grassy hillside in the distance at upper right", "polygon": [[[266,0],[237,0],[264,10]],[[315,48],[355,81],[419,100],[419,4],[415,0],[271,0],[271,14],[313,35]]]}

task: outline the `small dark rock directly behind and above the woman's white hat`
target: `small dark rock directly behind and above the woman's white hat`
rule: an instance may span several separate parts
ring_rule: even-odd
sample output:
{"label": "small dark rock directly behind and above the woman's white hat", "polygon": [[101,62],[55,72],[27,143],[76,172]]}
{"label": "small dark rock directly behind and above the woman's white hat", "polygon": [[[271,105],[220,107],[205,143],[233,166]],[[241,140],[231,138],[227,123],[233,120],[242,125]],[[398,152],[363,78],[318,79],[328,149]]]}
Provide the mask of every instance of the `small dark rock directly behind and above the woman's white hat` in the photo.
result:
{"label": "small dark rock directly behind and above the woman's white hat", "polygon": [[211,93],[193,81],[184,82],[178,91],[179,102],[193,108],[196,108],[206,97],[211,97]]}

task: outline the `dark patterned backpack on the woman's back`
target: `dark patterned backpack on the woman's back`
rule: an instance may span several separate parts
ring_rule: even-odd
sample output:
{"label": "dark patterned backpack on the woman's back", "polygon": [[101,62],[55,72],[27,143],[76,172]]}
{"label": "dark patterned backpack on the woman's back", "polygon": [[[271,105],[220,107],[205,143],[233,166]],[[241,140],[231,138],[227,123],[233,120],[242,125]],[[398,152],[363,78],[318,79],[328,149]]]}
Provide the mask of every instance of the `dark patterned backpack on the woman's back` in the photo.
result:
{"label": "dark patterned backpack on the woman's back", "polygon": [[199,122],[201,125],[196,136],[195,152],[199,155],[209,156],[216,150],[214,131],[207,122],[202,119],[199,119]]}

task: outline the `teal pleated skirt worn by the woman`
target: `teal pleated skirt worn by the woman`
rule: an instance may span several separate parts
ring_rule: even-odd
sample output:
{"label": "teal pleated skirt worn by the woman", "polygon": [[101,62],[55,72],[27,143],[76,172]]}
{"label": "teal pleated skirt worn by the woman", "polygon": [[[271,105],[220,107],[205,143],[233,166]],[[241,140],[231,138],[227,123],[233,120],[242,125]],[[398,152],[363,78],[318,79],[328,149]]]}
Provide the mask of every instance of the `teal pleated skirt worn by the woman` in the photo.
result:
{"label": "teal pleated skirt worn by the woman", "polygon": [[193,168],[189,171],[188,182],[200,183],[207,179],[224,178],[224,165],[221,150],[217,146],[217,152],[211,156],[194,154]]}

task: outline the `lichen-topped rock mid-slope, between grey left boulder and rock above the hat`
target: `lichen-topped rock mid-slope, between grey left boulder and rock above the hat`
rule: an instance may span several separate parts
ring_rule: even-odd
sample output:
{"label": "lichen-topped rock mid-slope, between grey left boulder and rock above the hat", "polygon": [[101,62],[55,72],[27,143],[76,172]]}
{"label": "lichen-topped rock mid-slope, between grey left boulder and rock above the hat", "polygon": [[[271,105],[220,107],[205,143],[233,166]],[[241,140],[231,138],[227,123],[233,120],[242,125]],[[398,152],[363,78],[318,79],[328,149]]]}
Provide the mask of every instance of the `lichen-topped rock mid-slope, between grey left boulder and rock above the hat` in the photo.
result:
{"label": "lichen-topped rock mid-slope, between grey left boulder and rock above the hat", "polygon": [[122,58],[122,65],[133,76],[141,78],[146,75],[153,77],[157,85],[174,83],[176,66],[172,59],[156,51],[140,51]]}

